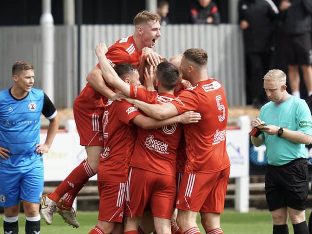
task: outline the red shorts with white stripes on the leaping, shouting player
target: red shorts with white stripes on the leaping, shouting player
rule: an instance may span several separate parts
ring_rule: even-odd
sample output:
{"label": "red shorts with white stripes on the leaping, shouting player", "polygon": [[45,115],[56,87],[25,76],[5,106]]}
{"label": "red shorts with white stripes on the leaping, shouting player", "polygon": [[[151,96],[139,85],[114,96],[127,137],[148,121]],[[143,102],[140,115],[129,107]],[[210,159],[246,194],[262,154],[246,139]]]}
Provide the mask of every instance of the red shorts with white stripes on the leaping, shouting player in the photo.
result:
{"label": "red shorts with white stripes on the leaping, shouting player", "polygon": [[74,102],[73,112],[80,145],[103,146],[102,118],[104,108],[83,109]]}

